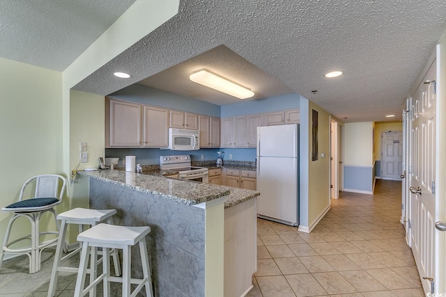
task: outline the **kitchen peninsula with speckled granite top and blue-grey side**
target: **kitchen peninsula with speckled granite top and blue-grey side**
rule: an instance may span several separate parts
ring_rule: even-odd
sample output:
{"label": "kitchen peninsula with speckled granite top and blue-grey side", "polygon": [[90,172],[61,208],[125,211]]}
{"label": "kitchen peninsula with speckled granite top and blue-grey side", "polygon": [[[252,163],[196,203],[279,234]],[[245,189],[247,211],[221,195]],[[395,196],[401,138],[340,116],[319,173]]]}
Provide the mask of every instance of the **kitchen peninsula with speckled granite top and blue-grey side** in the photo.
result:
{"label": "kitchen peninsula with speckled granite top and blue-grey side", "polygon": [[79,175],[91,208],[116,209],[117,225],[151,227],[155,296],[243,296],[252,288],[258,192],[121,170]]}

